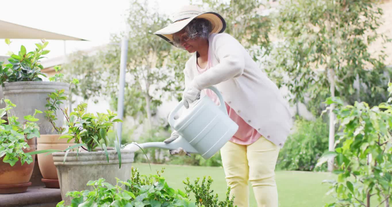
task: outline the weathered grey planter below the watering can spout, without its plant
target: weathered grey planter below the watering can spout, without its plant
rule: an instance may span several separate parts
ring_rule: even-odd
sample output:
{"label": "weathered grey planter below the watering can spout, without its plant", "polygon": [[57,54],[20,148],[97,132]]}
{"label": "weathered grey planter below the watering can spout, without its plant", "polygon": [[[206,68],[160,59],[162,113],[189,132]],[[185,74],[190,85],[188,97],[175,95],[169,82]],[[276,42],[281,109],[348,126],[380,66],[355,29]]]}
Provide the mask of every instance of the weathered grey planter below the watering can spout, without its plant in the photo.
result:
{"label": "weathered grey planter below the watering can spout, without its plant", "polygon": [[98,152],[70,152],[64,161],[65,153],[53,153],[54,165],[57,169],[60,183],[61,196],[65,205],[71,204],[71,198],[65,196],[69,191],[93,190],[87,186],[90,180],[104,178],[112,185],[116,184],[116,178],[127,180],[131,178],[131,167],[134,152],[121,151],[121,168],[119,168],[118,154],[115,150],[108,151],[109,163],[104,151]]}

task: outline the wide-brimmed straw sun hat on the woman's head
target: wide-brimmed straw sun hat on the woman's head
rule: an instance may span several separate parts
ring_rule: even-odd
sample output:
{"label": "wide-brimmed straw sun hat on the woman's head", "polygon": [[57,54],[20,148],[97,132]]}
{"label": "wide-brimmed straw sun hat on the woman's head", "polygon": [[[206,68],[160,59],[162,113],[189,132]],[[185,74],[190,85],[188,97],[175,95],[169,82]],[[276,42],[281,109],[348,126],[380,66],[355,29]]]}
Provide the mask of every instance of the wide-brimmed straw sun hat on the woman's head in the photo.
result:
{"label": "wide-brimmed straw sun hat on the woman's head", "polygon": [[185,5],[174,14],[173,23],[156,31],[154,34],[167,42],[173,42],[173,34],[181,31],[194,18],[203,18],[211,22],[211,33],[222,33],[226,29],[226,22],[221,15],[215,12],[203,12],[196,5]]}

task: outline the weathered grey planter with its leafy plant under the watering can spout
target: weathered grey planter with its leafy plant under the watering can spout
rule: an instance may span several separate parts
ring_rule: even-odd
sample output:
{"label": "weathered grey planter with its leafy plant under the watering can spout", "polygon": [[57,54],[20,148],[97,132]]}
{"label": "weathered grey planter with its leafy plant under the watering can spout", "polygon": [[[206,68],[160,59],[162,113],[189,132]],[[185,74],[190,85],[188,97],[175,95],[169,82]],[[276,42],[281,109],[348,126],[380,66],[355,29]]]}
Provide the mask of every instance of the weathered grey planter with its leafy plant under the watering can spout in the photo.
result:
{"label": "weathered grey planter with its leafy plant under the watering can spout", "polygon": [[76,151],[53,153],[54,165],[57,169],[61,195],[65,203],[71,199],[65,194],[69,191],[81,191],[92,179],[104,178],[116,184],[116,178],[126,180],[131,176],[131,164],[134,152],[121,150],[118,141],[114,142],[115,150],[108,150],[105,144],[107,132],[113,123],[122,122],[116,119],[115,113],[87,113],[87,104],[79,104],[73,112],[62,110],[67,121],[68,130],[60,138],[74,142],[71,146]]}

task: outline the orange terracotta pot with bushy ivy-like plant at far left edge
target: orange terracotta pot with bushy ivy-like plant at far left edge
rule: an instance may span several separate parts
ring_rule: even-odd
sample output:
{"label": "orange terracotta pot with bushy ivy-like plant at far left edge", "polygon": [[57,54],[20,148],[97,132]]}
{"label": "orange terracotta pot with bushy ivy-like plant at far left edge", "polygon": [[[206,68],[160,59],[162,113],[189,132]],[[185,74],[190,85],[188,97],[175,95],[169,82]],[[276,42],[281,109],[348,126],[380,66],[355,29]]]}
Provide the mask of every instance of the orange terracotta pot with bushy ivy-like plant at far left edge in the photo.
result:
{"label": "orange terracotta pot with bushy ivy-like plant at far left edge", "polygon": [[[5,108],[0,109],[4,116],[16,107],[10,100],[5,99]],[[27,122],[21,123],[16,116],[8,116],[8,124],[0,120],[0,194],[25,192],[31,185],[29,182],[33,173],[35,161],[35,137],[39,137],[39,127],[33,116],[24,116]]]}

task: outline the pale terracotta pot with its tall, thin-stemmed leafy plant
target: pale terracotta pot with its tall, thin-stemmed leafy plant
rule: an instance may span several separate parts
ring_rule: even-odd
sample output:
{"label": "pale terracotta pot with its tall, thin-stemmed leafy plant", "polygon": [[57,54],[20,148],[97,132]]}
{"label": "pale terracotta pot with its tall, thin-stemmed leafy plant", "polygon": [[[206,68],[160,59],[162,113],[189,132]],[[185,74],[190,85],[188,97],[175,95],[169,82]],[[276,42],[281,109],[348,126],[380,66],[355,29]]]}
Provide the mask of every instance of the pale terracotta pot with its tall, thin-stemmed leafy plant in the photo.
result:
{"label": "pale terracotta pot with its tall, thin-stemmed leafy plant", "polygon": [[[54,67],[56,72],[61,71],[61,67]],[[54,82],[69,82],[70,84],[78,84],[77,79],[73,79],[72,81],[68,81],[64,79],[64,75],[62,73],[57,73],[54,76],[49,78],[50,81]],[[69,143],[66,139],[60,139],[60,136],[65,131],[65,128],[60,125],[56,125],[56,120],[58,120],[58,114],[61,113],[64,117],[64,114],[61,111],[60,107],[64,106],[64,100],[67,100],[67,96],[65,96],[65,90],[56,90],[48,94],[45,104],[46,110],[45,118],[49,123],[51,123],[51,132],[54,134],[41,134],[40,138],[37,138],[37,150],[65,150],[69,147]],[[38,165],[40,168],[40,172],[42,174],[42,182],[45,183],[45,186],[48,188],[60,188],[60,184],[58,182],[57,170],[53,163],[52,154],[38,154]]]}

